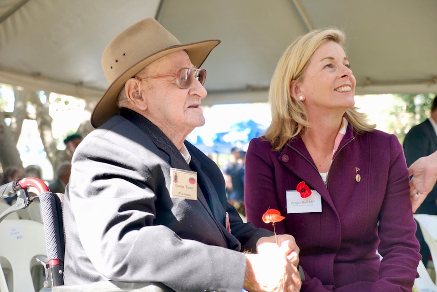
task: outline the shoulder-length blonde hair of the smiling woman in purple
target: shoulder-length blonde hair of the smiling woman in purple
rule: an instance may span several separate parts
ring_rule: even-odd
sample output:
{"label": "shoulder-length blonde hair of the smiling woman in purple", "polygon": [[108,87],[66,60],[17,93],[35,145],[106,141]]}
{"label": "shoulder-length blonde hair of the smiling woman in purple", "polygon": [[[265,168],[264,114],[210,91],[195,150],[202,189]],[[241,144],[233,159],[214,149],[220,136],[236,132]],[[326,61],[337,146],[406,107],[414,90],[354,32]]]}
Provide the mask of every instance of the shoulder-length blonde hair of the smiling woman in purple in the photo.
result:
{"label": "shoulder-length blonde hair of the smiling woman in purple", "polygon": [[[318,47],[333,41],[344,49],[345,40],[343,31],[339,29],[314,29],[295,39],[279,59],[269,89],[272,122],[264,135],[273,150],[280,150],[288,140],[310,126],[304,104],[292,97],[290,83],[302,80],[308,61]],[[357,112],[356,107],[347,109],[345,117],[358,134],[375,128],[375,125],[367,123],[367,115]]]}

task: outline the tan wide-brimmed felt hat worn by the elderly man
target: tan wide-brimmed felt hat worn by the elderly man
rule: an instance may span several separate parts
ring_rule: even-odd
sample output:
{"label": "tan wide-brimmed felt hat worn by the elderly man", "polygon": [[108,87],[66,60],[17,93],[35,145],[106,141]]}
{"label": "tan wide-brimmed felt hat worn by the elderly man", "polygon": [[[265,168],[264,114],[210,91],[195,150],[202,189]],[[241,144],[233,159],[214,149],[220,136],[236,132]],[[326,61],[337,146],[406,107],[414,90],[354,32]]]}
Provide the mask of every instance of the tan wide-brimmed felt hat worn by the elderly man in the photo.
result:
{"label": "tan wide-brimmed felt hat worn by the elderly man", "polygon": [[93,127],[102,125],[113,114],[120,113],[117,98],[125,82],[153,61],[170,53],[185,50],[191,62],[200,68],[220,40],[182,45],[153,17],[145,18],[123,30],[103,51],[102,67],[110,86],[93,113]]}

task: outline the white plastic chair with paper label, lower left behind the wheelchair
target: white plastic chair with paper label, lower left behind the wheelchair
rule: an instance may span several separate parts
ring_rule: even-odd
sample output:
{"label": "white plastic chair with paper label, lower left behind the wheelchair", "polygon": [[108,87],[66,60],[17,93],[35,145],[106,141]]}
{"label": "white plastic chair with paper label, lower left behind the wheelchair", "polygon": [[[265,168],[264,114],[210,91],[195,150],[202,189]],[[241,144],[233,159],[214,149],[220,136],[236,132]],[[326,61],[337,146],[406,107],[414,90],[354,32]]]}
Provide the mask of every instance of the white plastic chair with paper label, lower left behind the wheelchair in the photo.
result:
{"label": "white plastic chair with paper label, lower left behind the wheelchair", "polygon": [[2,259],[3,269],[6,271],[6,282],[9,287],[7,291],[28,292],[35,290],[31,269],[35,266],[41,266],[35,259],[38,255],[47,255],[42,223],[25,219],[10,219],[0,222],[0,259]]}

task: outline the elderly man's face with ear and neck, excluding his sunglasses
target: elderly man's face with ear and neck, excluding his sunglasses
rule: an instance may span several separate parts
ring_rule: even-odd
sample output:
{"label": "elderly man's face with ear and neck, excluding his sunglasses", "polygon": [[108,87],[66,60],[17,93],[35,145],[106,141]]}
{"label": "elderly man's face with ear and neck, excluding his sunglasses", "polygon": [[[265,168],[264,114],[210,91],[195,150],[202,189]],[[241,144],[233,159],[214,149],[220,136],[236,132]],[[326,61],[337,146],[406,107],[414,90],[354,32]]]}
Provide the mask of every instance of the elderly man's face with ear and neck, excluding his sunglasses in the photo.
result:
{"label": "elderly man's face with ear and neck, excluding his sunglasses", "polygon": [[[138,77],[177,73],[181,68],[194,68],[185,51],[177,51],[156,60],[148,66],[147,73]],[[187,89],[180,89],[175,77],[143,80],[140,91],[147,105],[144,116],[170,139],[181,135],[185,139],[195,127],[205,124],[200,100],[205,98],[207,92],[196,79]]]}

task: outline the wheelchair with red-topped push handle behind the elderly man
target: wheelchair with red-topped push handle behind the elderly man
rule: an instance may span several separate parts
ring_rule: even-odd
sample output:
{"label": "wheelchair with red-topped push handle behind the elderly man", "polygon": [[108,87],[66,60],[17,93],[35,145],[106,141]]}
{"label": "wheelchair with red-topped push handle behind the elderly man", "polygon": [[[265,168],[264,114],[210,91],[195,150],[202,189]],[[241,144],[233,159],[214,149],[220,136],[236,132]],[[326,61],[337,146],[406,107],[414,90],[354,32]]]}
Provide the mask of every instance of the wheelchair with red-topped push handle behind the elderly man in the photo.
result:
{"label": "wheelchair with red-topped push handle behind the elderly man", "polygon": [[[29,192],[29,189],[32,191]],[[37,195],[33,190],[37,191]],[[53,194],[46,183],[38,178],[26,177],[0,186],[0,199],[17,195],[15,204],[0,214],[0,222],[9,214],[24,209],[39,200],[44,224],[47,257],[39,256],[37,261],[44,266],[46,280],[41,291],[53,292],[174,292],[158,282],[101,281],[83,285],[64,285],[65,237],[63,229],[63,194]]]}

